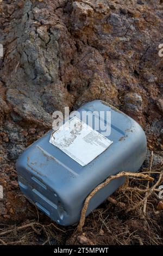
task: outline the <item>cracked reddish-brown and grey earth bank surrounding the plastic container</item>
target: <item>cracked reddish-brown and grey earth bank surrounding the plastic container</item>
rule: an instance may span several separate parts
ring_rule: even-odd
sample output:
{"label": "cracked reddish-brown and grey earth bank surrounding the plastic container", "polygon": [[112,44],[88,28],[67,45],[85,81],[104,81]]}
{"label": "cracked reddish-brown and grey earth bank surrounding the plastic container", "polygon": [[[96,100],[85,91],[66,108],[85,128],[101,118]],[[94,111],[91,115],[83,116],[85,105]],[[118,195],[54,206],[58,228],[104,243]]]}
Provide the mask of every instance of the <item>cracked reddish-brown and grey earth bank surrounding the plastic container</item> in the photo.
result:
{"label": "cracked reddish-brown and grey earth bank surrounding the plastic container", "polygon": [[[0,11],[0,224],[8,230],[0,231],[0,243],[161,244],[156,197],[149,198],[146,218],[142,207],[127,214],[103,203],[86,219],[85,241],[76,226],[51,224],[28,203],[18,188],[15,161],[51,128],[55,110],[101,99],[142,125],[148,141],[142,168],[153,150],[153,170],[160,170],[162,0],[1,0]],[[128,208],[130,193],[118,191],[113,197]]]}

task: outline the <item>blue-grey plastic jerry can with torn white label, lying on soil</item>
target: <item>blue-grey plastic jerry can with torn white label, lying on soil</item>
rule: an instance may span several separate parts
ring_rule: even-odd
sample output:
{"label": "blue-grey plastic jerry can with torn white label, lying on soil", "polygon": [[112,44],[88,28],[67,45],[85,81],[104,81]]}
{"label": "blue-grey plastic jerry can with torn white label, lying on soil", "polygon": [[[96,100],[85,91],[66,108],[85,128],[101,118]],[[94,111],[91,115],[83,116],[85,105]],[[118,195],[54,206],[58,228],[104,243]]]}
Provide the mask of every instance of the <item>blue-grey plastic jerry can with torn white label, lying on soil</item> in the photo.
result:
{"label": "blue-grey plastic jerry can with torn white label, lying on soil", "polygon": [[[146,157],[145,132],[128,115],[101,100],[86,103],[78,113],[92,116],[93,121],[70,118],[30,145],[16,163],[21,191],[61,225],[79,221],[84,200],[97,185],[122,171],[137,172]],[[95,129],[97,120],[108,129],[106,133],[100,125]],[[99,190],[86,216],[124,181],[112,180]]]}

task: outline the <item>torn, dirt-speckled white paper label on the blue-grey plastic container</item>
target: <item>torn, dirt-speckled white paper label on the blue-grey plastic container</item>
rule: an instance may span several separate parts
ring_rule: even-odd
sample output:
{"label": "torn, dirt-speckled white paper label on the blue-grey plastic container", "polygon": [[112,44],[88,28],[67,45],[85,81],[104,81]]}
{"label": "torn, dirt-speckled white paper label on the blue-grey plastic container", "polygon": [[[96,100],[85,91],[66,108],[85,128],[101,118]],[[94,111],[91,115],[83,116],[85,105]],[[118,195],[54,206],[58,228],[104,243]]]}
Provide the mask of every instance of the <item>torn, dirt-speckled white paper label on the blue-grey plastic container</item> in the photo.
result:
{"label": "torn, dirt-speckled white paper label on the blue-grey plastic container", "polygon": [[49,142],[81,166],[90,163],[112,144],[112,141],[77,117],[68,120],[54,131]]}

